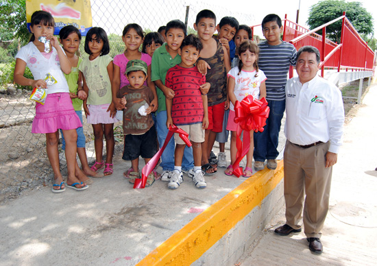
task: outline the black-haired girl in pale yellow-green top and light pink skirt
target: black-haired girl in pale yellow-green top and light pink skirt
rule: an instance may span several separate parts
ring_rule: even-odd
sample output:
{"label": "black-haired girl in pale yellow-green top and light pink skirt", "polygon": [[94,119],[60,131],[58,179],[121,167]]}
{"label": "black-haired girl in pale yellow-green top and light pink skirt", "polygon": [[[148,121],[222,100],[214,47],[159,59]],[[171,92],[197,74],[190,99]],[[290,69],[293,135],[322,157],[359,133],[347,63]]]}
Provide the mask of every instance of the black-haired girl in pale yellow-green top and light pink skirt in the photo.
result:
{"label": "black-haired girl in pale yellow-green top and light pink skirt", "polygon": [[[84,49],[89,57],[82,60],[79,70],[84,81],[84,90],[88,98],[84,100],[84,111],[88,123],[92,124],[95,134],[96,162],[91,167],[94,171],[104,169],[104,175],[112,174],[112,155],[114,154],[114,123],[117,110],[112,102],[116,99],[117,91],[112,93],[112,58],[108,55],[110,44],[108,36],[101,27],[89,29],[85,38]],[[104,149],[104,135],[106,138],[106,162],[102,160]]]}

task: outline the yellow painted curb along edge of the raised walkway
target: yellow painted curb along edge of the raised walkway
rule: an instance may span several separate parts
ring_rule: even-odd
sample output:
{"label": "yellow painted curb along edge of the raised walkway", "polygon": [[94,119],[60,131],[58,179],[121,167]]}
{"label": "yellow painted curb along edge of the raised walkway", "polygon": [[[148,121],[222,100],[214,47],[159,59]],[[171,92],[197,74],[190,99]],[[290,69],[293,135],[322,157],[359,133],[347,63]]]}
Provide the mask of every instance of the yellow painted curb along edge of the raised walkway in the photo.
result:
{"label": "yellow painted curb along edge of the raised walkway", "polygon": [[137,266],[191,265],[250,211],[260,205],[284,176],[283,161],[275,171],[258,171],[156,247]]}

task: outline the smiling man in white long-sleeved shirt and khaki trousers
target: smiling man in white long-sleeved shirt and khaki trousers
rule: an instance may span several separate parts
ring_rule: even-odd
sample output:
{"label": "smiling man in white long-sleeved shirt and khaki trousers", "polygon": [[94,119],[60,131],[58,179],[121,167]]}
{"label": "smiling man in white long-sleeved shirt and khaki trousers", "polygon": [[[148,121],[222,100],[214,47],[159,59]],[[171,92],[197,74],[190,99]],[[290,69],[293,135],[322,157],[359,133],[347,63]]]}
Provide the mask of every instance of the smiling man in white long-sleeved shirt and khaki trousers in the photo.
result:
{"label": "smiling man in white long-sleeved shirt and khaki trousers", "polygon": [[[343,136],[344,108],[341,91],[317,75],[317,48],[297,52],[298,77],[287,82],[284,150],[284,226],[276,234],[301,232],[298,224],[304,209],[304,233],[312,252],[321,253],[321,229],[328,213],[332,165]],[[305,197],[306,194],[306,197]],[[304,206],[303,206],[304,204]]]}

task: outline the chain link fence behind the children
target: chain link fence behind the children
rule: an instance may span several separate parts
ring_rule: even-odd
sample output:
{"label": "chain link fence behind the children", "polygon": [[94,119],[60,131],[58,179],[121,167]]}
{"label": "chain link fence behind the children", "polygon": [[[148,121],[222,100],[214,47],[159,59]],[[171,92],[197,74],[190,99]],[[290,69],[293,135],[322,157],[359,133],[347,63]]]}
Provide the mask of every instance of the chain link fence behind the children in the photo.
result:
{"label": "chain link fence behind the children", "polygon": [[[188,32],[192,33],[196,14],[203,9],[210,9],[217,15],[217,23],[223,16],[234,16],[240,24],[252,25],[253,16],[241,12],[231,12],[228,8],[208,5],[201,1],[91,1],[93,26],[103,27],[110,39],[110,56],[122,53],[125,45],[121,35],[127,23],[138,23],[145,32],[157,31],[173,19],[187,23]],[[11,29],[10,29],[11,30]],[[2,51],[13,49],[16,53],[17,43],[2,43]],[[84,41],[80,45],[82,58]],[[14,56],[14,55],[13,55]],[[5,199],[16,197],[25,189],[46,186],[53,178],[53,173],[45,150],[44,134],[32,134],[32,121],[35,103],[29,100],[31,88],[12,84],[14,58],[0,57],[0,203]],[[25,76],[32,77],[29,71]],[[114,125],[118,153],[123,150],[121,143],[121,122]],[[84,134],[86,134],[86,151],[89,163],[95,160],[93,130],[84,117]],[[104,149],[106,150],[106,149]],[[60,151],[60,168],[66,175],[64,152]],[[117,156],[117,155],[116,155]]]}

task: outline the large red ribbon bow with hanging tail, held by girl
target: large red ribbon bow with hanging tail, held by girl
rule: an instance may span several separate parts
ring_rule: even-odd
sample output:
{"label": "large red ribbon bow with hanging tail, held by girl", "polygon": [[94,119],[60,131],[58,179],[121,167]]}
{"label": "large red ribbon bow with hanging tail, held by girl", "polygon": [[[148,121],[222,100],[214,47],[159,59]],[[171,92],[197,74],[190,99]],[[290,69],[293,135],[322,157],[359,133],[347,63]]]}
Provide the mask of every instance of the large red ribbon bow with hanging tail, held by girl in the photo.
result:
{"label": "large red ribbon bow with hanging tail, held by girl", "polygon": [[[239,162],[241,162],[250,149],[250,131],[263,132],[263,127],[266,125],[266,119],[269,116],[269,107],[265,98],[258,100],[254,99],[252,95],[248,95],[241,102],[236,101],[234,112],[236,112],[234,122],[238,123],[236,139],[237,154],[232,167],[234,176],[239,178],[243,173],[242,167],[239,167]],[[243,141],[241,141],[242,131]]]}

